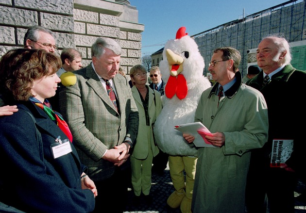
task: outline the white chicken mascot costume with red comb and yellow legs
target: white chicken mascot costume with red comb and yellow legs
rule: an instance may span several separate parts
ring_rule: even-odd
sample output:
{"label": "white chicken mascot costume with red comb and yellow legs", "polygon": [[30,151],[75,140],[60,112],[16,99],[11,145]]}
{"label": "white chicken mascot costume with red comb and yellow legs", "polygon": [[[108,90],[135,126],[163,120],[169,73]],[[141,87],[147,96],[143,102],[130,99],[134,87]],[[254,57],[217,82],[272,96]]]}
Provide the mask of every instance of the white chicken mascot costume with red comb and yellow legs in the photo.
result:
{"label": "white chicken mascot costume with red comb and yellow legs", "polygon": [[167,83],[154,135],[158,147],[169,154],[170,177],[175,191],[167,204],[171,208],[180,207],[182,213],[190,213],[197,149],[188,144],[182,132],[174,126],[194,122],[200,96],[211,84],[203,76],[204,59],[185,27],[177,31],[175,39],[165,44],[159,68]]}

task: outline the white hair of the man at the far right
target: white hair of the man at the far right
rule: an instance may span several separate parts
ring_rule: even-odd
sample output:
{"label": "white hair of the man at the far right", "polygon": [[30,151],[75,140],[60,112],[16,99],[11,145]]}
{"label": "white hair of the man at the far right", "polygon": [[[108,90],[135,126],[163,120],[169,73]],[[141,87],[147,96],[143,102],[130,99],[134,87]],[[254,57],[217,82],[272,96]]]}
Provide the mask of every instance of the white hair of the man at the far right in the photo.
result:
{"label": "white hair of the man at the far right", "polygon": [[[266,38],[273,40],[274,44],[276,44],[277,47],[278,47],[278,53],[282,53],[284,51],[287,51],[287,53],[284,57],[284,59],[285,59],[284,64],[285,65],[290,64],[292,56],[291,56],[290,46],[289,46],[289,43],[286,40],[286,38],[284,38],[284,36],[282,36],[280,34],[270,34],[270,35],[267,35],[267,36],[263,37],[262,40],[264,40]],[[275,39],[275,38],[277,38],[277,39]]]}

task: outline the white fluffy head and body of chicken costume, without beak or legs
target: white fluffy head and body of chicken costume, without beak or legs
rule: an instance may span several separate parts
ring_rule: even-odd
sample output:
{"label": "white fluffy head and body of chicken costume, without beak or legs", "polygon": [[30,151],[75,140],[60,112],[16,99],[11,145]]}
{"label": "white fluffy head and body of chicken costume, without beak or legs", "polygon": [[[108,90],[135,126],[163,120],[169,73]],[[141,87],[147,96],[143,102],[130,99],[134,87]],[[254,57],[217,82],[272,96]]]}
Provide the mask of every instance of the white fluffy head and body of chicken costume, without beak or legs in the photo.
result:
{"label": "white fluffy head and body of chicken costume, without beak or legs", "polygon": [[162,97],[163,109],[155,121],[155,139],[158,147],[169,155],[197,156],[197,149],[190,146],[183,138],[182,132],[175,130],[174,126],[194,122],[200,96],[205,89],[211,86],[208,79],[203,76],[204,59],[197,44],[190,36],[169,40],[165,45],[163,60],[159,66],[165,82],[170,77],[166,49],[184,58],[181,74],[187,80],[188,92],[186,98],[183,99],[177,98],[176,95],[172,98],[167,98],[166,95]]}

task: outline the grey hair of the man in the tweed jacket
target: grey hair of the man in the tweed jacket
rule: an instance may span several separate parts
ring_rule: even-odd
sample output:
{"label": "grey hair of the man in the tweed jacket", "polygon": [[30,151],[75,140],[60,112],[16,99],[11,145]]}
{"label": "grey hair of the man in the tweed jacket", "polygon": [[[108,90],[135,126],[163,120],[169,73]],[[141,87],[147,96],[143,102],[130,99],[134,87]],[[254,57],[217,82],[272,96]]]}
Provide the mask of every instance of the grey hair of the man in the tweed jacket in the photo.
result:
{"label": "grey hair of the man in the tweed jacket", "polygon": [[104,54],[105,48],[112,50],[116,55],[122,54],[120,45],[114,39],[99,37],[91,46],[91,57],[99,58]]}

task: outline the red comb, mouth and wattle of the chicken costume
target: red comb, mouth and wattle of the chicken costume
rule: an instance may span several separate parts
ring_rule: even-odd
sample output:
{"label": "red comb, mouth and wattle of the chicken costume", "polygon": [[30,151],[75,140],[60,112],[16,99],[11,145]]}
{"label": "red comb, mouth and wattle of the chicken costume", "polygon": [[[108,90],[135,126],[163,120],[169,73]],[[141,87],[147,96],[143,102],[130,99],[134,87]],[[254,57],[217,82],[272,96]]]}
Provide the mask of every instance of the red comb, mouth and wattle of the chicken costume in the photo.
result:
{"label": "red comb, mouth and wattle of the chicken costume", "polygon": [[[180,39],[187,34],[188,33],[186,33],[186,27],[181,27],[180,29],[178,29],[175,38]],[[182,65],[172,65],[171,71],[178,70],[179,66]],[[165,87],[165,94],[167,98],[172,98],[176,94],[177,98],[183,99],[186,98],[187,92],[187,82],[183,74],[178,74],[177,76],[170,76]]]}

